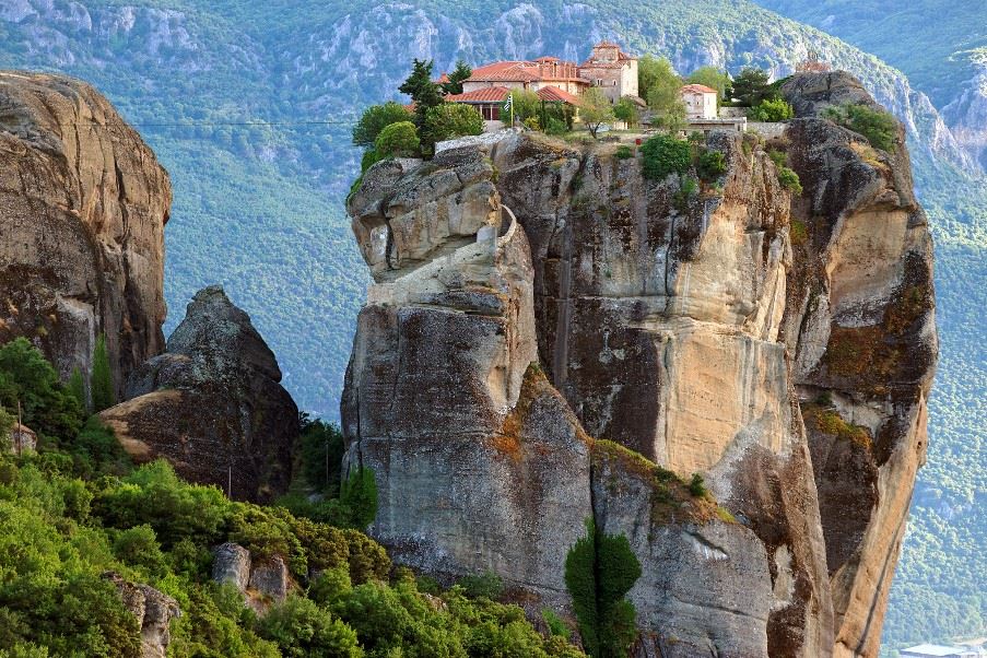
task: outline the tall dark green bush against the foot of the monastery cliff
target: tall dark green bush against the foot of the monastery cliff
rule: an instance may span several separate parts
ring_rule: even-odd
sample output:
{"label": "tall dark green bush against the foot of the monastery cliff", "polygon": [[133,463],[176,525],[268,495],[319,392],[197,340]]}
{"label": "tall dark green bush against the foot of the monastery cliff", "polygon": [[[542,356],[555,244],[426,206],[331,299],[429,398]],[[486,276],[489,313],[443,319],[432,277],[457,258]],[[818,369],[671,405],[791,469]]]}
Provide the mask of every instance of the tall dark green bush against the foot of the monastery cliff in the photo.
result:
{"label": "tall dark green bush against the foot of the monastery cliff", "polygon": [[573,598],[583,646],[594,658],[626,656],[637,637],[636,611],[624,596],[641,577],[627,538],[586,521],[586,537],[565,559],[565,586]]}

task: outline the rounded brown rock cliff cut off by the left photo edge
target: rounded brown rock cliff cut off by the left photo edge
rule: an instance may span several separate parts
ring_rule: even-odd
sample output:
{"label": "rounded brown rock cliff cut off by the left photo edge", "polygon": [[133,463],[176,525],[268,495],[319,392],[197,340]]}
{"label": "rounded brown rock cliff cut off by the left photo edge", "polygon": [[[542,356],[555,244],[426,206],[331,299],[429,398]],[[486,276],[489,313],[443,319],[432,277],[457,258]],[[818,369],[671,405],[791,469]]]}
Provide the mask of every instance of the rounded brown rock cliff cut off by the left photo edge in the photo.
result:
{"label": "rounded brown rock cliff cut off by the left photo edge", "polygon": [[81,82],[0,73],[0,342],[26,336],[63,376],[106,334],[114,383],[164,346],[167,173]]}

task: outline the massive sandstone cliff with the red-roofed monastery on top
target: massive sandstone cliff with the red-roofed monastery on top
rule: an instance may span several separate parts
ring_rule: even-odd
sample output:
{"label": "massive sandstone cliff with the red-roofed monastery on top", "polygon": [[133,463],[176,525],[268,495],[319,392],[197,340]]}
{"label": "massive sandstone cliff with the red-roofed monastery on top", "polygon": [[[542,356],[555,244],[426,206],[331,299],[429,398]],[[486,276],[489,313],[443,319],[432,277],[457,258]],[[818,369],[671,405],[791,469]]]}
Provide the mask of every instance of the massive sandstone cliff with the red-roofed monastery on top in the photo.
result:
{"label": "massive sandstone cliff with the red-roofed monastery on top", "polygon": [[860,84],[785,93],[785,138],[710,134],[728,171],[692,197],[532,134],[367,172],[343,431],[399,562],[565,610],[592,518],[642,563],[638,656],[877,655],[925,454],[931,244],[901,132],[889,155],[818,118],[872,104]]}

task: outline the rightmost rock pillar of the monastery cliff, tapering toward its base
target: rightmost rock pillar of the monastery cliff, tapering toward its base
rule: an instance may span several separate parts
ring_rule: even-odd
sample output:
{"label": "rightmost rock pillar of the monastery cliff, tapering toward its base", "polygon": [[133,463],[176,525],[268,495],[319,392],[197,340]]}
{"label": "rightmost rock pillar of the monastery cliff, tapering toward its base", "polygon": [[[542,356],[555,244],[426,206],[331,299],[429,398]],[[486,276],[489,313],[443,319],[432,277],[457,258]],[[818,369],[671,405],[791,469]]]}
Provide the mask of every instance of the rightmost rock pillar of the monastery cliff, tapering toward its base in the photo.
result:
{"label": "rightmost rock pillar of the monastery cliff, tapering toward its base", "polygon": [[900,129],[893,153],[816,118],[880,109],[846,73],[783,87],[788,156],[804,195],[784,340],[812,450],[837,656],[874,656],[917,469],[938,343],[932,244]]}

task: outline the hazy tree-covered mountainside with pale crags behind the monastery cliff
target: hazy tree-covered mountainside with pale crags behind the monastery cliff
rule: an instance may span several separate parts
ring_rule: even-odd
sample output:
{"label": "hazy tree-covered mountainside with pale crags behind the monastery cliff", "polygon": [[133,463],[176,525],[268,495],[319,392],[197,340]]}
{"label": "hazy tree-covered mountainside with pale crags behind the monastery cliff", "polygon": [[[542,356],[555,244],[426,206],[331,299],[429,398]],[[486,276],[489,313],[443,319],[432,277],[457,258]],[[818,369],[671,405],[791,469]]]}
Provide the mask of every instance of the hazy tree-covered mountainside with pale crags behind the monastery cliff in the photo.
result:
{"label": "hazy tree-covered mountainside with pale crags behind the monastery cliff", "polygon": [[[889,42],[910,28],[881,25]],[[600,38],[665,55],[682,73],[756,64],[783,75],[816,49],[905,121],[938,240],[943,359],[931,399],[929,466],[892,592],[888,639],[984,632],[987,598],[974,584],[987,560],[962,545],[985,545],[987,527],[979,466],[987,419],[977,402],[987,397],[987,359],[976,285],[987,247],[987,186],[962,172],[970,161],[928,98],[896,70],[740,0],[0,3],[0,68],[92,82],[169,169],[168,328],[196,290],[223,283],[278,354],[299,407],[327,418],[338,413],[367,281],[341,207],[359,171],[349,140],[354,117],[396,97],[413,57],[435,58],[439,70],[458,58],[578,60]],[[963,613],[936,603],[961,597]]]}

